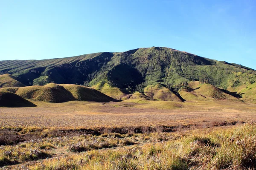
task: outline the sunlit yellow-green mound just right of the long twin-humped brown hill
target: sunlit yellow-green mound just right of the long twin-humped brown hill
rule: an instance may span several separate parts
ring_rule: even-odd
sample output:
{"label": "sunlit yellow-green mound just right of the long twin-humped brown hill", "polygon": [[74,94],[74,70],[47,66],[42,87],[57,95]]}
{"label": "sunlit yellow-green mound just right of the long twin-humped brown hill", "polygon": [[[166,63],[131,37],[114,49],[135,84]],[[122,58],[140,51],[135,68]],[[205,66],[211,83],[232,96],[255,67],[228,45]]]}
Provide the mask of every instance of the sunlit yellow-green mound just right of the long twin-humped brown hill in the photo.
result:
{"label": "sunlit yellow-green mound just right of the long twin-humped brown hill", "polygon": [[121,99],[122,97],[127,95],[122,92],[120,88],[114,87],[105,81],[99,82],[97,85],[92,86],[92,88],[102,92],[105,95],[111,96],[114,99]]}

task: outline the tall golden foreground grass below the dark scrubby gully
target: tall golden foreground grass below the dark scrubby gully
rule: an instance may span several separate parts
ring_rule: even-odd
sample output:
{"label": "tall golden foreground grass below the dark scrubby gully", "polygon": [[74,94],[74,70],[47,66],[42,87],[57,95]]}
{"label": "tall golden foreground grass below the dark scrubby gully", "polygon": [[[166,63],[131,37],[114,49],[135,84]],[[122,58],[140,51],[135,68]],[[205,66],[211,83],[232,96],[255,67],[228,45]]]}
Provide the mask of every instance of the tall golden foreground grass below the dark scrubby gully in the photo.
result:
{"label": "tall golden foreground grass below the dark scrubby gully", "polygon": [[[46,150],[44,152],[55,156],[6,169],[253,170],[256,167],[256,124],[175,133],[108,133],[45,138],[37,143],[24,142],[15,148],[3,147],[5,154],[0,153],[0,160],[12,160],[12,154],[28,147]],[[8,154],[11,157],[8,158]]]}

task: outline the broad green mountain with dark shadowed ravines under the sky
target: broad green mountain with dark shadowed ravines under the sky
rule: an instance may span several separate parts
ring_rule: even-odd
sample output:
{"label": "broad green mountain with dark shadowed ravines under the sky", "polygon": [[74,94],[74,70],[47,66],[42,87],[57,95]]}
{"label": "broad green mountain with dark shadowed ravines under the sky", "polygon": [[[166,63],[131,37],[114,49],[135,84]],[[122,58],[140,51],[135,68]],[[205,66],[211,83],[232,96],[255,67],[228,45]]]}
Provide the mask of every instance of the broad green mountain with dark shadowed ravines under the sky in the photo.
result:
{"label": "broad green mountain with dark shadowed ravines under the sky", "polygon": [[[151,99],[184,101],[182,88],[195,82],[212,85],[206,89],[220,89],[222,97],[217,97],[220,99],[238,98],[233,98],[236,94],[256,98],[255,70],[165,47],[59,59],[0,61],[0,74],[10,74],[26,86],[51,82],[89,86],[116,99],[138,91]],[[213,97],[203,90],[186,92],[199,98]]]}

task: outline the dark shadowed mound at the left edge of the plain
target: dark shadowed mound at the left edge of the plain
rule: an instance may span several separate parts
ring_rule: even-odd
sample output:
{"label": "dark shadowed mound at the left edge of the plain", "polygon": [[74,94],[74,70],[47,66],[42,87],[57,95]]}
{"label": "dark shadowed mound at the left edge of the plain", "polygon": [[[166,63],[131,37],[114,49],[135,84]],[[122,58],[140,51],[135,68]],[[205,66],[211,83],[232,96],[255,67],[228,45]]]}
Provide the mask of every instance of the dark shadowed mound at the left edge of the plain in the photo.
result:
{"label": "dark shadowed mound at the left edge of the plain", "polygon": [[0,91],[0,107],[21,108],[21,107],[35,107],[32,102],[18,96],[9,91]]}

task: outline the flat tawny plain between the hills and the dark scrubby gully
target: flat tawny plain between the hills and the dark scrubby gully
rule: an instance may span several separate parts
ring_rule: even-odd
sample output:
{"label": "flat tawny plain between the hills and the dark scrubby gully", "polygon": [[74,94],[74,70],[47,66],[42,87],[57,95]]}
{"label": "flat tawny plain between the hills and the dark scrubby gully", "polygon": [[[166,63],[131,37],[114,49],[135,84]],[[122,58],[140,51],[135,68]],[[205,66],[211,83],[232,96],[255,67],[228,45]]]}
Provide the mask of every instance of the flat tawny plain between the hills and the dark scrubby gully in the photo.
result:
{"label": "flat tawny plain between the hills and the dark scrubby gully", "polygon": [[[125,100],[97,103],[33,101],[34,108],[1,108],[2,126],[122,127],[203,125],[208,122],[248,122],[255,119],[256,104],[236,101],[169,102]],[[200,109],[198,109],[200,108]]]}

